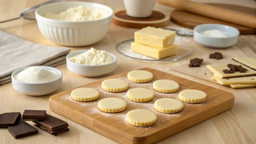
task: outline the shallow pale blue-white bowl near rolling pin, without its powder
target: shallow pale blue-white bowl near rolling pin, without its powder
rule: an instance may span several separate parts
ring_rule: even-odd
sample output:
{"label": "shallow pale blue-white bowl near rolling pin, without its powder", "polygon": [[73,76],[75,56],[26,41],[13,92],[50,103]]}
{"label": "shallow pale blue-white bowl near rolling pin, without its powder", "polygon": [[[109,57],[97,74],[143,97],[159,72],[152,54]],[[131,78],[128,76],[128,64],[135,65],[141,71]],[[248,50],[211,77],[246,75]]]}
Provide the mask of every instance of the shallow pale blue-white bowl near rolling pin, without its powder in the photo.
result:
{"label": "shallow pale blue-white bowl near rolling pin, without its powder", "polygon": [[[205,30],[213,30],[217,29],[221,32],[228,35],[228,37],[208,37],[205,35],[202,35],[201,33]],[[239,36],[239,30],[227,25],[221,25],[221,24],[202,24],[198,25],[194,28],[194,40],[197,43],[200,43],[207,47],[213,47],[213,48],[226,48],[233,46],[238,41]]]}

